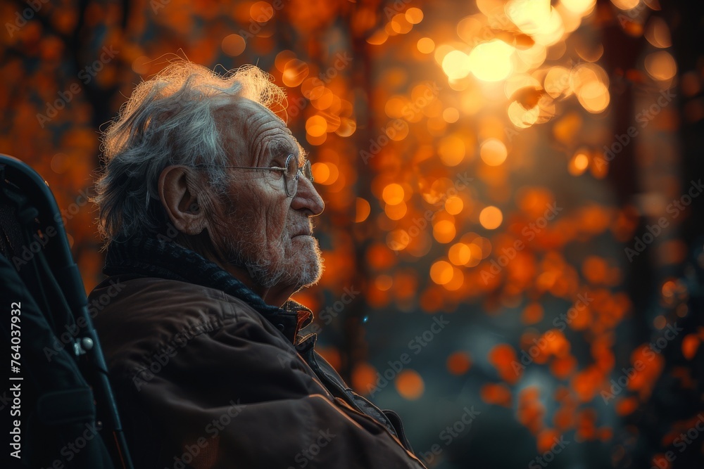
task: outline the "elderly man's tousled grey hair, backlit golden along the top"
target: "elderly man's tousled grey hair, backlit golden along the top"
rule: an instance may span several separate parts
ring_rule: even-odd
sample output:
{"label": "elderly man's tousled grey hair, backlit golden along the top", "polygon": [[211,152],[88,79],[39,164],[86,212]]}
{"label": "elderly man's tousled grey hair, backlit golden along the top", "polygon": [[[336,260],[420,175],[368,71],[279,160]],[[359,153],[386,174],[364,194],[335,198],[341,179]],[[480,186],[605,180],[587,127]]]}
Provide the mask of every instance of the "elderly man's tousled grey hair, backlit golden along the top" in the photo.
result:
{"label": "elderly man's tousled grey hair, backlit golden along the top", "polygon": [[222,190],[228,153],[215,111],[229,96],[265,108],[283,107],[284,92],[254,65],[218,74],[179,60],[134,89],[102,135],[105,169],[96,182],[98,227],[108,246],[132,233],[165,227],[158,177],[170,165],[205,165],[210,186]]}

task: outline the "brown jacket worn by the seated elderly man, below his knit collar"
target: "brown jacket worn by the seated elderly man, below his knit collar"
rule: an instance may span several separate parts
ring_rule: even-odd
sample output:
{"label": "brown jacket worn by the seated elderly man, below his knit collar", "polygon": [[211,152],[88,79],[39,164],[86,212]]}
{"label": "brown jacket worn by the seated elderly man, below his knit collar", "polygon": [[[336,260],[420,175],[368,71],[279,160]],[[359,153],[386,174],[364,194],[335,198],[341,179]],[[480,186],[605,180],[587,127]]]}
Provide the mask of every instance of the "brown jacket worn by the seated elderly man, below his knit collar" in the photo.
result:
{"label": "brown jacket worn by the seated elderly man, below his knit collar", "polygon": [[297,334],[309,312],[275,324],[220,290],[139,276],[89,303],[138,469],[424,467],[398,416]]}

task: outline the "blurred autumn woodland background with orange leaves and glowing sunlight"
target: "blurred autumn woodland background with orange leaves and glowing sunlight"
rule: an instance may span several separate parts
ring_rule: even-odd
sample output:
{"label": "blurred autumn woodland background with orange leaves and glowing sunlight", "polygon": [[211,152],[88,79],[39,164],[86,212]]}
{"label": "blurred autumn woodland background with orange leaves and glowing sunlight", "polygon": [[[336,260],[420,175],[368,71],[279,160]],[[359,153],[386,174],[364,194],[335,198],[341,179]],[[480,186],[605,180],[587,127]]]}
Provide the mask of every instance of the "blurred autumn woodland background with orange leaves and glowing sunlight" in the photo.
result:
{"label": "blurred autumn woodland background with orange leaves and glowing sunlight", "polygon": [[310,150],[322,353],[430,468],[704,467],[701,2],[4,1],[0,153],[87,292],[100,130],[254,63]]}

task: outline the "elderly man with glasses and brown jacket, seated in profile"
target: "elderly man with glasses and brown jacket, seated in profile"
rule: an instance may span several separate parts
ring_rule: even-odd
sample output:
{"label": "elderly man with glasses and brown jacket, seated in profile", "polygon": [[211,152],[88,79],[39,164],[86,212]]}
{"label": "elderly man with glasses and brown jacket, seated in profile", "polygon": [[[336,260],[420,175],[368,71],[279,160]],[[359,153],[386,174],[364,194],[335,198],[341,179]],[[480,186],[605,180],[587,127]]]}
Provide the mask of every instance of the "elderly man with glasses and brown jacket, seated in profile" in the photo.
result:
{"label": "elderly man with glasses and brown jacket, seated in profile", "polygon": [[423,467],[298,333],[323,202],[282,98],[257,68],[175,63],[103,136],[89,302],[137,468]]}

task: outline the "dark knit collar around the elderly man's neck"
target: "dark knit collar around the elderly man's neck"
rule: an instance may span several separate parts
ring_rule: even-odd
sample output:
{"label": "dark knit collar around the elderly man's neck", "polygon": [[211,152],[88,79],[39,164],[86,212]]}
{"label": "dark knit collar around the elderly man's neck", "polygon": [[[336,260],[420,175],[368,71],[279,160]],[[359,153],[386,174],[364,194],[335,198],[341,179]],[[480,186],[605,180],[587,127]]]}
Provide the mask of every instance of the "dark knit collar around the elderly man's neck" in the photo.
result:
{"label": "dark knit collar around the elderly man's neck", "polygon": [[[298,328],[312,318],[310,310],[289,300],[284,308],[266,304],[244,283],[197,252],[164,239],[132,236],[110,244],[103,273],[108,276],[138,275],[167,278],[215,288],[249,304],[277,326],[293,342]],[[301,314],[298,314],[299,311]]]}

